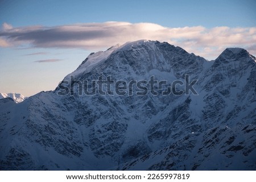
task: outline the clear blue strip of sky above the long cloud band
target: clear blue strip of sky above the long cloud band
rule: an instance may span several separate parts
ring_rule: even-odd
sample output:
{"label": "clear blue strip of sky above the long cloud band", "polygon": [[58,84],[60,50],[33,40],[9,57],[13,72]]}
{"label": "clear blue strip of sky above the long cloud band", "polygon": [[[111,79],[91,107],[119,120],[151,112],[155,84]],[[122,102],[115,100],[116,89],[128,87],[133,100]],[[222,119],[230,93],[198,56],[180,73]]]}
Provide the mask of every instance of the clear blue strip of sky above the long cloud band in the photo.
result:
{"label": "clear blue strip of sky above the long cloud band", "polygon": [[150,22],[166,27],[251,27],[256,24],[254,0],[131,1],[1,1],[0,23],[14,27],[42,24],[121,21]]}

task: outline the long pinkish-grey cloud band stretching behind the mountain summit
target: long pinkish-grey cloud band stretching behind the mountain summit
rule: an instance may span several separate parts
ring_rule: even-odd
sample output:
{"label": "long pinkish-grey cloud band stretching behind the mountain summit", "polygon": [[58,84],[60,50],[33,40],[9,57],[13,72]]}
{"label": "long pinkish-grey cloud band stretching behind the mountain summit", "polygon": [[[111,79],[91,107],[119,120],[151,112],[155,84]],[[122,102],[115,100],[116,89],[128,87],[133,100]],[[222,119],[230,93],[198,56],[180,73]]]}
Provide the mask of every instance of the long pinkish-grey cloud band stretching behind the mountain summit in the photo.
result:
{"label": "long pinkish-grey cloud band stretching behind the mountain summit", "polygon": [[[80,23],[64,26],[12,27],[4,23],[0,46],[105,49],[139,39],[166,41],[206,58],[217,57],[226,47],[256,46],[256,27],[163,27],[154,23]],[[256,55],[255,49],[250,53]]]}

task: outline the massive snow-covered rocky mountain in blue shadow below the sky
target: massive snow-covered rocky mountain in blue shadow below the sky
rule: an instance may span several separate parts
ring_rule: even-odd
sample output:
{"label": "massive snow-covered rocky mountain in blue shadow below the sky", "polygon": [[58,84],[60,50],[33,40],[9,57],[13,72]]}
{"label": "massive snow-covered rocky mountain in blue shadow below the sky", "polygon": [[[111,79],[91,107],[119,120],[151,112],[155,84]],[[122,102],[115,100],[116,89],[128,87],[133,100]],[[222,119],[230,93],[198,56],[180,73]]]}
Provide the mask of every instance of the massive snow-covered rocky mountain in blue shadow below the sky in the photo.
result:
{"label": "massive snow-covered rocky mountain in blue shadow below the sky", "polygon": [[[84,80],[92,88],[100,76],[129,82],[152,75],[168,83],[189,75],[198,95],[79,95]],[[255,57],[241,48],[213,61],[148,40],[91,53],[52,92],[18,105],[0,100],[0,168],[254,170],[255,78]]]}

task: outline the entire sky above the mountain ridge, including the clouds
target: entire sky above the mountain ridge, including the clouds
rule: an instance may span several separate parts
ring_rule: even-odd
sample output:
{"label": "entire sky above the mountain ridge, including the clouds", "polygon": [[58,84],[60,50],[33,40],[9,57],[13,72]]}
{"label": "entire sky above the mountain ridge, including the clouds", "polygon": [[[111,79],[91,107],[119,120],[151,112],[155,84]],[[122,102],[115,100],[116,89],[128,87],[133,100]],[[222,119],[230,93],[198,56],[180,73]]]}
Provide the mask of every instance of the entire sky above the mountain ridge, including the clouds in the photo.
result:
{"label": "entire sky above the mountain ridge, including the clouds", "polygon": [[256,1],[0,1],[0,92],[53,90],[90,52],[139,39],[256,55]]}

